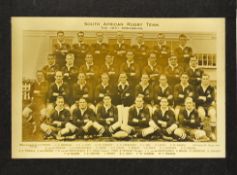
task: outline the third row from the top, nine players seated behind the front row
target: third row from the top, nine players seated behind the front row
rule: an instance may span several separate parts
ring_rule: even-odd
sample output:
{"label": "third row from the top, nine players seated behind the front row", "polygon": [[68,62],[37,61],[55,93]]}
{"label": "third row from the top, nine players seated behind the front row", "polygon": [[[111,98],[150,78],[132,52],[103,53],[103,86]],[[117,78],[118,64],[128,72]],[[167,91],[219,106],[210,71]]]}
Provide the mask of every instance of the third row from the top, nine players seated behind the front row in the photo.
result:
{"label": "third row from the top, nine players seated behind the front row", "polygon": [[[179,106],[184,104],[186,97],[194,98],[198,106],[209,106],[215,102],[215,89],[210,85],[209,76],[203,74],[200,85],[192,86],[189,83],[189,77],[186,72],[183,72],[180,77],[180,83],[176,84],[172,89],[168,84],[167,76],[161,74],[159,83],[152,86],[147,74],[142,74],[140,83],[134,88],[127,81],[125,73],[120,74],[116,86],[111,86],[109,76],[101,75],[101,83],[93,89],[87,85],[86,76],[84,73],[78,74],[78,82],[69,88],[67,83],[63,82],[62,72],[56,72],[56,80],[50,87],[43,80],[43,73],[37,72],[37,82],[31,87],[31,96],[33,104],[54,103],[57,96],[63,96],[65,103],[69,106],[73,105],[79,98],[86,98],[88,102],[96,105],[100,103],[105,95],[112,98],[115,105],[123,104],[130,106],[134,102],[134,98],[138,95],[144,98],[146,104],[158,105],[161,97],[166,97],[171,106]],[[199,98],[205,96],[206,99]]]}

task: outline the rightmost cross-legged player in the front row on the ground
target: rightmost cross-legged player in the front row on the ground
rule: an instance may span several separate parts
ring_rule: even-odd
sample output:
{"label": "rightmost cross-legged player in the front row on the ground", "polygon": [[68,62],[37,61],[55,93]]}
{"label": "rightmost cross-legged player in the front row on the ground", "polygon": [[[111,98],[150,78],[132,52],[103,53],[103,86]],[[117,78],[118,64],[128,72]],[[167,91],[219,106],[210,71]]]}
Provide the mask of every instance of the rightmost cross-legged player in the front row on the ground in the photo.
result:
{"label": "rightmost cross-legged player in the front row on the ground", "polygon": [[195,109],[195,104],[191,97],[185,99],[185,108],[179,112],[179,124],[175,133],[181,138],[192,141],[208,141],[206,132],[201,128],[201,118]]}

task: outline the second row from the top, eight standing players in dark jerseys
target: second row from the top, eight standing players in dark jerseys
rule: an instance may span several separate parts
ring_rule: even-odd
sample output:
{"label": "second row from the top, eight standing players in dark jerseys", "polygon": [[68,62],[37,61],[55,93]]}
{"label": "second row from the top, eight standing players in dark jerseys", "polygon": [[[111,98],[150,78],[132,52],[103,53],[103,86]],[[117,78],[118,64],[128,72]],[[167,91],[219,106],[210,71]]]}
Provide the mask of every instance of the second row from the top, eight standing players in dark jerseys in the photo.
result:
{"label": "second row from the top, eight standing players in dark jerseys", "polygon": [[203,70],[198,67],[198,60],[195,55],[190,57],[189,65],[179,65],[176,55],[171,55],[167,58],[168,63],[165,66],[158,64],[159,58],[157,58],[154,52],[150,52],[146,63],[139,66],[135,59],[135,54],[132,50],[126,52],[126,61],[124,61],[120,67],[114,64],[114,55],[110,52],[106,53],[103,63],[95,64],[94,56],[91,53],[87,53],[85,56],[85,64],[80,67],[75,66],[75,55],[73,53],[66,54],[66,65],[62,68],[56,64],[55,55],[48,55],[48,64],[42,68],[45,74],[45,78],[49,83],[55,81],[56,71],[63,72],[64,82],[73,84],[77,81],[77,75],[80,72],[86,74],[87,83],[91,87],[95,87],[98,83],[98,79],[101,74],[107,73],[110,78],[110,84],[116,84],[120,73],[126,73],[128,76],[128,82],[137,84],[140,81],[141,74],[148,74],[154,84],[157,82],[160,74],[166,74],[169,84],[174,86],[179,82],[179,78],[182,72],[187,72],[190,77],[190,83],[194,86],[200,83],[200,77],[203,74]]}

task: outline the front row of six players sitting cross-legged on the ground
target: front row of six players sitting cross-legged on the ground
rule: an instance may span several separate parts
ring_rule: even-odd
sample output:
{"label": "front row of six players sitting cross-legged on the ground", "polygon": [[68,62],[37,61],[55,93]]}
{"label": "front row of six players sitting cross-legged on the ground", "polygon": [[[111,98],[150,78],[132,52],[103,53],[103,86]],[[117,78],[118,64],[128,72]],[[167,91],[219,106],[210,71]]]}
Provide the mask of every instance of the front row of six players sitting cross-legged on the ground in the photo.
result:
{"label": "front row of six players sitting cross-legged on the ground", "polygon": [[65,108],[64,98],[58,96],[54,110],[45,115],[40,128],[45,138],[58,140],[101,136],[117,139],[162,137],[172,141],[213,139],[213,133],[207,137],[202,129],[202,121],[191,97],[185,99],[184,107],[175,118],[165,97],[161,98],[160,107],[151,113],[142,97],[136,97],[133,106],[121,110],[121,106],[112,105],[110,96],[104,96],[95,112],[84,98],[80,98],[70,111]]}

